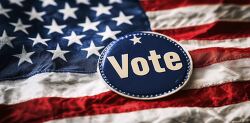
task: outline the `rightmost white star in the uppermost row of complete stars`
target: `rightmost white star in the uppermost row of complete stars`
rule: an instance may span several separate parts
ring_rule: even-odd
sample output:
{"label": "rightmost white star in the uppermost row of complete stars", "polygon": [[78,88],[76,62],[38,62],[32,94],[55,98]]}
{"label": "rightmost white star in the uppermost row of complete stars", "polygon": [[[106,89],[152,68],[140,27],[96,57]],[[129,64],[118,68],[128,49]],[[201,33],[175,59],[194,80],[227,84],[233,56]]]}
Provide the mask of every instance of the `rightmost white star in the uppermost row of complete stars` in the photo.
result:
{"label": "rightmost white star in the uppermost row of complete stars", "polygon": [[96,11],[96,16],[100,16],[102,14],[110,15],[110,9],[112,9],[111,6],[104,6],[102,4],[98,4],[97,7],[91,7],[92,10]]}

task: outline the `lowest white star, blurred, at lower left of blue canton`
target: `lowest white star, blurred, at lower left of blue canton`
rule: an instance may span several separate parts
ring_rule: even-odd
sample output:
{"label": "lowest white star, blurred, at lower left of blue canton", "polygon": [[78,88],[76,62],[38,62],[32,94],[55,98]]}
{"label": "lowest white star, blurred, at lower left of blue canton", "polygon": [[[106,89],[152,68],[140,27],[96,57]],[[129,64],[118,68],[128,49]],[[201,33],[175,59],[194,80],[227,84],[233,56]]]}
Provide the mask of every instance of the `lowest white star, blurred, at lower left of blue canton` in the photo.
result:
{"label": "lowest white star, blurred, at lower left of blue canton", "polygon": [[19,58],[19,61],[18,61],[18,66],[19,66],[20,64],[22,64],[25,61],[33,64],[33,62],[30,59],[30,56],[33,55],[34,53],[35,52],[27,52],[23,46],[22,53],[17,54],[17,55],[13,55],[13,56]]}

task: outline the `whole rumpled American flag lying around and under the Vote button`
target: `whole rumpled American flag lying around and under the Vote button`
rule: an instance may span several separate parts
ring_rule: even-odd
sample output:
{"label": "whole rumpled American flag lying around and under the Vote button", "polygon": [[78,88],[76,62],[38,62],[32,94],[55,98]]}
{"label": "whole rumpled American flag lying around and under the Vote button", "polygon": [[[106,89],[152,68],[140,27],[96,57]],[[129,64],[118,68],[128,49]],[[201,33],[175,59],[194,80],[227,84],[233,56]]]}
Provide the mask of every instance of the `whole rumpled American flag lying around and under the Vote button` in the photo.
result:
{"label": "whole rumpled American flag lying around and under the Vote button", "polygon": [[[134,31],[189,50],[188,85],[141,101],[111,92],[100,52]],[[1,0],[0,122],[250,122],[249,0]]]}

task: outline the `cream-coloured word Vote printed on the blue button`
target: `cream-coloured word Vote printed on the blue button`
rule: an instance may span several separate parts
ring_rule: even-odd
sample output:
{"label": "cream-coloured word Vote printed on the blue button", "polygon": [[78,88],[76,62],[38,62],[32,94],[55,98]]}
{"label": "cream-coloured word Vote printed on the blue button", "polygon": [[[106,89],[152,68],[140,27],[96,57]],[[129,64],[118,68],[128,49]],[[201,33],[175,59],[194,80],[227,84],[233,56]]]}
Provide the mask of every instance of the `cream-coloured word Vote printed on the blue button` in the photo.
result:
{"label": "cream-coloured word Vote printed on the blue button", "polygon": [[[150,56],[148,56],[148,60],[150,60],[153,64],[153,67],[156,72],[163,73],[166,72],[165,68],[162,68],[159,62],[161,59],[160,55],[156,54],[155,50],[149,51]],[[176,71],[182,68],[182,63],[180,56],[175,52],[167,52],[163,56],[166,67],[169,70]],[[111,63],[117,74],[121,79],[128,78],[128,54],[122,54],[122,64],[119,65],[116,58],[114,56],[107,57],[108,61]],[[141,69],[139,67],[141,65]],[[148,61],[143,57],[136,57],[131,60],[131,67],[133,72],[138,76],[144,76],[149,73],[149,65]]]}

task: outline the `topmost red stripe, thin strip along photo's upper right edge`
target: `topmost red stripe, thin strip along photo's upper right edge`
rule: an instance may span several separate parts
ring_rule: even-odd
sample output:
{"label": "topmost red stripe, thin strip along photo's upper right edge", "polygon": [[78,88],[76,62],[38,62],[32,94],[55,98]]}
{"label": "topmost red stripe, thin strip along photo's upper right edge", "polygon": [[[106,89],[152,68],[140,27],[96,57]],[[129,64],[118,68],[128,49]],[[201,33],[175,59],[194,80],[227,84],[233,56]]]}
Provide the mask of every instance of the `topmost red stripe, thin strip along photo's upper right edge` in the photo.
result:
{"label": "topmost red stripe, thin strip along photo's upper right edge", "polygon": [[250,4],[249,0],[141,0],[141,5],[146,11],[173,9],[192,5],[208,4]]}

